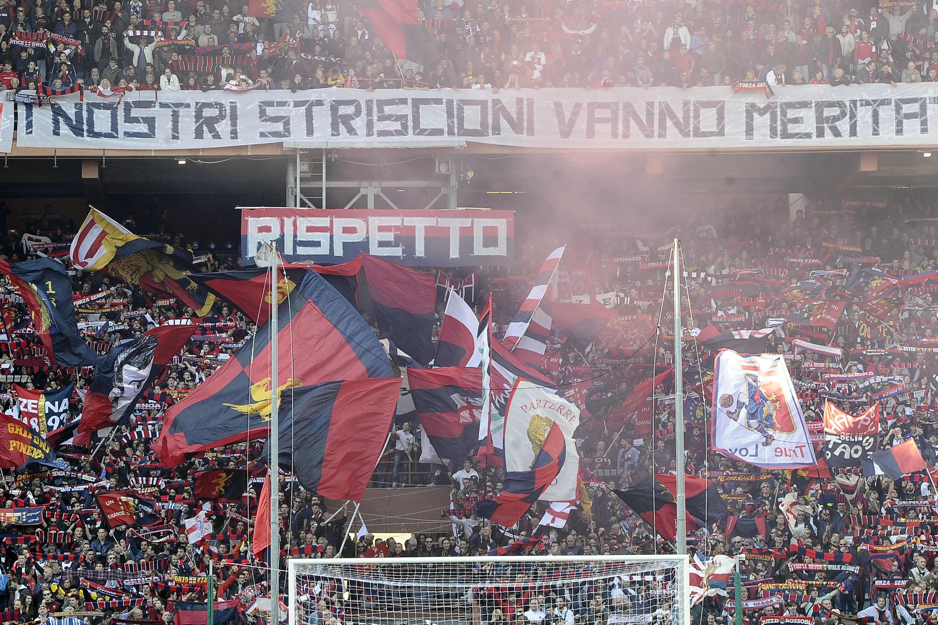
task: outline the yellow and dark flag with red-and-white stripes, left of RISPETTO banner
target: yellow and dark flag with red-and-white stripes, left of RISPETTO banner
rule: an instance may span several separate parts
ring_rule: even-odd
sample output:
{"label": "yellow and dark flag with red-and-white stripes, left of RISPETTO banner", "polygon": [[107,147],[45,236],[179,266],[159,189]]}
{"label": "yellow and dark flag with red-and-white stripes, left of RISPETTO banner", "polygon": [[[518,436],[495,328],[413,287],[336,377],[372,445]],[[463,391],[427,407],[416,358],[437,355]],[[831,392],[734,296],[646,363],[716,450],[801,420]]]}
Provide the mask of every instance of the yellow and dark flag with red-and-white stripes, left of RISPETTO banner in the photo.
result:
{"label": "yellow and dark flag with red-and-white stripes, left of RISPETTO banner", "polygon": [[92,208],[68,254],[76,269],[107,272],[144,290],[178,297],[204,317],[215,295],[189,279],[192,255],[184,249],[150,241]]}

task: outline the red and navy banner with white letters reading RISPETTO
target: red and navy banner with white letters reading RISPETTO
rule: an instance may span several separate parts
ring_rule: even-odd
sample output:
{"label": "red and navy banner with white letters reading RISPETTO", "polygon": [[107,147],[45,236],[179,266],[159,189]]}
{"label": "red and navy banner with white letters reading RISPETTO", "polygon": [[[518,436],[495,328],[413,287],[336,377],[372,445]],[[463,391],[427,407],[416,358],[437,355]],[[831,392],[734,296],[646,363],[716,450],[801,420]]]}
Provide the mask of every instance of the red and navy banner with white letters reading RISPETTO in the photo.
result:
{"label": "red and navy banner with white letters reading RISPETTO", "polygon": [[253,264],[261,244],[275,241],[288,262],[347,262],[371,254],[416,267],[505,265],[514,250],[514,219],[513,211],[481,208],[242,208],[241,262]]}

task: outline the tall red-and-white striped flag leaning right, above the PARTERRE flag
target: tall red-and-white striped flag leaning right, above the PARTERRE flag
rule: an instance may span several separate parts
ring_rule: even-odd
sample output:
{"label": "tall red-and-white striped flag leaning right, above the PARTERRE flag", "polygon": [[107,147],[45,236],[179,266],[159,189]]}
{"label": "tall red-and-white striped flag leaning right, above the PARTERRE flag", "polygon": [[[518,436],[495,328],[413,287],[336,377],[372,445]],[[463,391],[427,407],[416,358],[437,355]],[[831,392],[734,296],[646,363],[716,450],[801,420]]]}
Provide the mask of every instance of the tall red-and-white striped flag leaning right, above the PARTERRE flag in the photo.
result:
{"label": "tall red-and-white striped flag leaning right, above the PARTERRE flag", "polygon": [[567,246],[557,247],[537,272],[535,285],[508,325],[502,345],[524,363],[539,364],[551,334],[551,302],[556,299],[557,266]]}

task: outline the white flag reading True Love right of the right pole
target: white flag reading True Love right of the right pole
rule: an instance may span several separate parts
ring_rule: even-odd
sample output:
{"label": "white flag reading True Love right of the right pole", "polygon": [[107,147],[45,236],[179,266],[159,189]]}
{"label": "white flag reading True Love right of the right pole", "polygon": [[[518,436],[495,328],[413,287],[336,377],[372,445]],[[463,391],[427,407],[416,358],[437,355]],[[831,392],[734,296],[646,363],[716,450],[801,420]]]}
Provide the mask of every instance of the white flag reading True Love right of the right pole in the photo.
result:
{"label": "white flag reading True Love right of the right pole", "polygon": [[815,467],[805,416],[780,354],[722,350],[714,365],[713,448],[763,469]]}

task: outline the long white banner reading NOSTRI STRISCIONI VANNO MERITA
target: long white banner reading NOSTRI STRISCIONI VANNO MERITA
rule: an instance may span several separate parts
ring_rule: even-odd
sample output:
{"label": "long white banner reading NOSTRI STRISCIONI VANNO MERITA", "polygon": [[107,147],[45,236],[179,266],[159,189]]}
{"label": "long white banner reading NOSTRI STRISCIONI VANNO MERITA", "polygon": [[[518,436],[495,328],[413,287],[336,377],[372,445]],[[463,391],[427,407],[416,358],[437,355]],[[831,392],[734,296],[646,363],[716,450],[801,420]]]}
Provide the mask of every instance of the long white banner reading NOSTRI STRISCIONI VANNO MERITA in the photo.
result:
{"label": "long white banner reading NOSTRI STRISCIONI VANNO MERITA", "polygon": [[[477,141],[541,148],[688,149],[930,145],[938,96],[928,82],[652,89],[385,89],[293,93],[136,91],[17,102],[23,147],[109,150],[297,142],[411,147]],[[12,122],[4,102],[0,150]],[[8,114],[9,113],[9,114]],[[7,140],[8,141],[8,140]]]}

